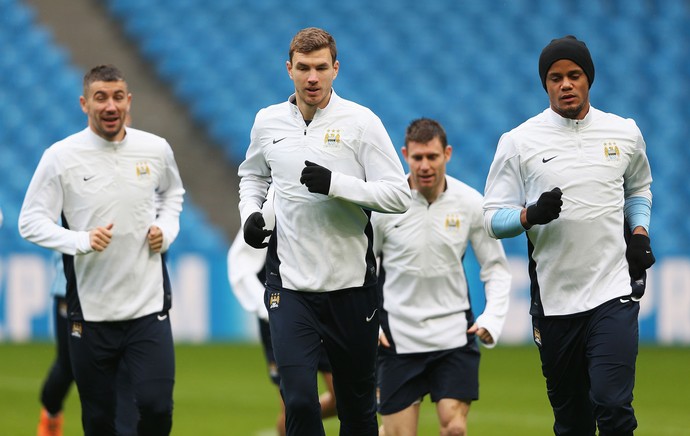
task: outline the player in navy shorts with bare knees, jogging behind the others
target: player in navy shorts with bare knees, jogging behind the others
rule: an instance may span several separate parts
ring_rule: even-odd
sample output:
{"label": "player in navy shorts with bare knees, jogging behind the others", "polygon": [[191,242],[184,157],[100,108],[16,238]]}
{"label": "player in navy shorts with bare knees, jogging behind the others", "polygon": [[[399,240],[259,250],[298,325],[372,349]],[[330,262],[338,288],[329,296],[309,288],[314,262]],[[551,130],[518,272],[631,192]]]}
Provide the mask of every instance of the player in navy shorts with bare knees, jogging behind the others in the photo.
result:
{"label": "player in navy shorts with bare knees, jogging behind the others", "polygon": [[[410,168],[410,208],[372,216],[383,297],[377,368],[382,433],[416,435],[420,402],[430,394],[440,434],[464,435],[470,404],[479,398],[476,338],[496,345],[511,274],[503,246],[484,230],[481,194],[446,174],[452,147],[441,124],[412,121],[402,153]],[[469,245],[486,293],[476,320],[462,266]]]}

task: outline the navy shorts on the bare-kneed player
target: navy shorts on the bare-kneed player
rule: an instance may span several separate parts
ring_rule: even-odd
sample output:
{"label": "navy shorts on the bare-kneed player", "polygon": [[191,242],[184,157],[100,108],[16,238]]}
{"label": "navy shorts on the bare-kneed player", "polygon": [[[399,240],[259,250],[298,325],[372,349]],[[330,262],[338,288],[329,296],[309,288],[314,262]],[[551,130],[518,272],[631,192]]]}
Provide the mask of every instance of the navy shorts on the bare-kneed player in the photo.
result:
{"label": "navy shorts on the bare-kneed player", "polygon": [[479,398],[479,347],[395,354],[379,346],[377,403],[382,415],[400,412],[430,394],[431,401]]}

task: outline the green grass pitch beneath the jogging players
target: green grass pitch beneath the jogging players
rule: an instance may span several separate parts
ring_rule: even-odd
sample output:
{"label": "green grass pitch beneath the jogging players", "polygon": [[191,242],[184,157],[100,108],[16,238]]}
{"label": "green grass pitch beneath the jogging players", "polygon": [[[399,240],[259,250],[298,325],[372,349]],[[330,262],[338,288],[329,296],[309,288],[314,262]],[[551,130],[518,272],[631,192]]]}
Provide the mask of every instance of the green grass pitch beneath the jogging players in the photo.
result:
{"label": "green grass pitch beneath the jogging players", "polygon": [[[267,436],[278,407],[256,344],[178,345],[173,435]],[[39,389],[54,348],[49,343],[0,344],[0,434],[36,434]],[[549,435],[552,415],[533,346],[482,350],[480,400],[473,435]],[[690,348],[642,346],[637,365],[636,435],[690,435]],[[437,435],[435,408],[422,403],[420,436]],[[325,422],[337,435],[337,419]],[[81,434],[76,389],[65,406],[65,436]]]}

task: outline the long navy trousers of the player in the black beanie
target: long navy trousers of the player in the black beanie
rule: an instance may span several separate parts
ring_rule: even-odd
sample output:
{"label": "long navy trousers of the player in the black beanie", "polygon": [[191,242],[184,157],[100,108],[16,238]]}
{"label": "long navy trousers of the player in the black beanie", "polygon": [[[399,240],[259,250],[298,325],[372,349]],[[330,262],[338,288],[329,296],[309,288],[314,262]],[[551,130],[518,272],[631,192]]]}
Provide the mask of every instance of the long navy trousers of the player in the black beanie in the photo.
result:
{"label": "long navy trousers of the player in the black beanie", "polygon": [[579,316],[532,318],[556,435],[632,435],[639,303],[616,298]]}

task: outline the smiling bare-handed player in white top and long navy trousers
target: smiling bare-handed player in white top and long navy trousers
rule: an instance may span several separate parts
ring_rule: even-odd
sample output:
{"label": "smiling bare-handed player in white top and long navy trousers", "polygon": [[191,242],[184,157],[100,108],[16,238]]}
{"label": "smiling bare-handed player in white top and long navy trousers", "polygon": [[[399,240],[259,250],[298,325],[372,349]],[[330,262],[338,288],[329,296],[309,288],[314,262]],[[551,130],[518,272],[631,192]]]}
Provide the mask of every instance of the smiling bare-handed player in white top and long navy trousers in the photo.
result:
{"label": "smiling bare-handed player in white top and long navy trousers", "polygon": [[80,103],[88,127],[44,152],[19,216],[25,239],[72,256],[65,257],[69,353],[88,436],[116,433],[121,361],[134,386],[138,433],[168,435],[172,427],[163,253],[179,232],[184,188],[167,141],[125,127],[131,99],[116,67],[87,72]]}

